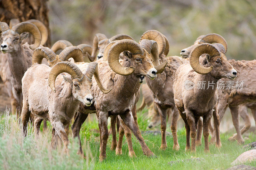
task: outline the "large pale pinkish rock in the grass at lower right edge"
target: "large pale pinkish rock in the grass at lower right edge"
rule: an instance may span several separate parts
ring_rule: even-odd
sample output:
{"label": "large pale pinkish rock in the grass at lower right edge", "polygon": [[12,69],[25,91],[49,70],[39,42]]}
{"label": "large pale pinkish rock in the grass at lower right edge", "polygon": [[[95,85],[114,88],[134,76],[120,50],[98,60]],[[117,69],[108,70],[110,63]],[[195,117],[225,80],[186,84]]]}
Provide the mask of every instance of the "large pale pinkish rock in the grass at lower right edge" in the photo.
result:
{"label": "large pale pinkish rock in the grass at lower right edge", "polygon": [[234,160],[231,165],[242,164],[244,162],[251,162],[256,159],[256,149],[246,151],[239,155],[236,160]]}

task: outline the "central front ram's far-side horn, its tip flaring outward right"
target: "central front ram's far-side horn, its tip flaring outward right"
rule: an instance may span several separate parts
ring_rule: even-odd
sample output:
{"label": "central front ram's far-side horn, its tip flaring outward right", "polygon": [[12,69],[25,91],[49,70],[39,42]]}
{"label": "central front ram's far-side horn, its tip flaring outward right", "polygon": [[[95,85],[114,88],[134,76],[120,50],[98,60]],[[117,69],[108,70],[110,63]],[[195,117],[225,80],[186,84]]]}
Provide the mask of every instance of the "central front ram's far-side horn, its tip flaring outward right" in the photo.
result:
{"label": "central front ram's far-side horn, its tip flaring outward right", "polygon": [[141,40],[140,47],[145,49],[149,54],[151,54],[152,63],[157,70],[157,74],[162,73],[166,67],[167,61],[164,61],[162,64],[159,62],[159,55],[158,55],[158,46],[156,41],[154,40]]}

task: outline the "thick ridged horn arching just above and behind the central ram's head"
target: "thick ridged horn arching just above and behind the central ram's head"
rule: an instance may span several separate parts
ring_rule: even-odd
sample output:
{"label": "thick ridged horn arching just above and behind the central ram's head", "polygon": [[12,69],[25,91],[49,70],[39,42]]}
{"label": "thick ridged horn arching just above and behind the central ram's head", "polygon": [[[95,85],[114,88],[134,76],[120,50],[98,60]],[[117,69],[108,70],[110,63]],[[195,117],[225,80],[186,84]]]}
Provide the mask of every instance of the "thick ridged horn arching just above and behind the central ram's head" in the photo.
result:
{"label": "thick ridged horn arching just above and behind the central ram's head", "polygon": [[156,41],[158,45],[159,56],[161,56],[164,53],[164,50],[166,48],[166,43],[165,43],[164,35],[162,33],[156,30],[148,30],[142,34],[140,41],[143,39]]}

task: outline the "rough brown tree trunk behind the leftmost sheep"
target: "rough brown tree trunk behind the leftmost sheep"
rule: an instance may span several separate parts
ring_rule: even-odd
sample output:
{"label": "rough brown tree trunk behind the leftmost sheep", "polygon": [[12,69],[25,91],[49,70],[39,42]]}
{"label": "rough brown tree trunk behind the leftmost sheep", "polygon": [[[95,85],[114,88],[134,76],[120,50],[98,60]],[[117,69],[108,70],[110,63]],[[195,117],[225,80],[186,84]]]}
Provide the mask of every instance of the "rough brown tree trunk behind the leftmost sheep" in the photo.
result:
{"label": "rough brown tree trunk behind the leftmost sheep", "polygon": [[21,22],[28,19],[43,22],[48,29],[48,40],[45,46],[51,47],[46,0],[0,0],[0,20],[9,24],[12,18],[18,18]]}

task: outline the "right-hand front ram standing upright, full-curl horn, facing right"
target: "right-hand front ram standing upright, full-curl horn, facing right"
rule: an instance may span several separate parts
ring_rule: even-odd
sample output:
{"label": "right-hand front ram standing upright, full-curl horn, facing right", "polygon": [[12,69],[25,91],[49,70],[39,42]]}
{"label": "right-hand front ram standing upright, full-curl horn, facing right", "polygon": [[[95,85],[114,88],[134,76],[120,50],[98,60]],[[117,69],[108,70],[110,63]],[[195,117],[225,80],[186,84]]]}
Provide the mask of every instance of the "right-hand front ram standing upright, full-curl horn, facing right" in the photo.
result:
{"label": "right-hand front ram standing upright, full-curl horn, facing right", "polygon": [[[199,63],[199,57],[206,54],[203,66]],[[216,91],[217,82],[220,78],[236,78],[237,71],[228,63],[226,51],[222,44],[214,45],[203,43],[197,45],[190,53],[190,64],[182,64],[176,71],[173,84],[174,101],[187,131],[186,150],[196,152],[196,125],[199,118],[203,117],[204,151],[209,151],[209,123],[213,115],[217,139],[220,136],[218,124]],[[208,88],[201,88],[200,82],[205,82]],[[197,87],[196,87],[197,86]],[[199,88],[198,88],[199,87]],[[221,146],[219,140],[216,145]]]}

